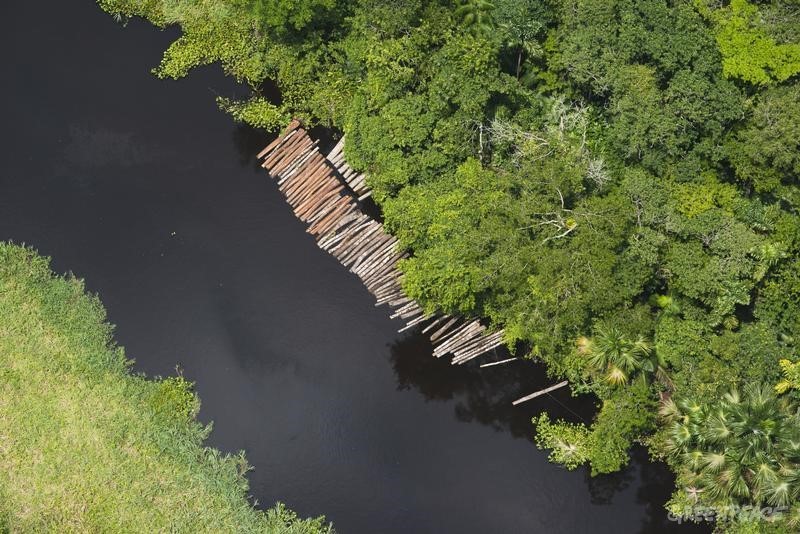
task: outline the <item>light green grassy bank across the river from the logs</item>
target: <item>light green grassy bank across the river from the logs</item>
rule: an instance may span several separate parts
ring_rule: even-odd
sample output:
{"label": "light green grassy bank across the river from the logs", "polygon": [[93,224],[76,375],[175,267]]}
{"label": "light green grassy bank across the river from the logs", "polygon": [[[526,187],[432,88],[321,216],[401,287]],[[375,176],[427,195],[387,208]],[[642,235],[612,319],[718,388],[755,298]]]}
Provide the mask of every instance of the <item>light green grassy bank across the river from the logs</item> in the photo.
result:
{"label": "light green grassy bank across the river from the logs", "polygon": [[0,243],[0,532],[328,532],[248,500],[182,377],[130,372],[100,301]]}

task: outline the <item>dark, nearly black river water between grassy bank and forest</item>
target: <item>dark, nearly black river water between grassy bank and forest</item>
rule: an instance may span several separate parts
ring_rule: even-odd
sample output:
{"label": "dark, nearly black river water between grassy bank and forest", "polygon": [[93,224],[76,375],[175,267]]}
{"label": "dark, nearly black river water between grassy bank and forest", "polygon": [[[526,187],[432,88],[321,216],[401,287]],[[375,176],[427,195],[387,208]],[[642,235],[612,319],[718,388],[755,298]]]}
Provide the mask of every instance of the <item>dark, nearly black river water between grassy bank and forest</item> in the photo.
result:
{"label": "dark, nearly black river water between grassy bank and forest", "polygon": [[3,12],[0,239],[85,278],[136,370],[196,382],[260,505],[343,533],[693,530],[667,520],[671,478],[641,451],[595,479],[547,462],[531,416],[589,412],[565,392],[511,408],[541,368],[454,368],[397,334],[256,167],[269,136],[216,109],[243,88],[217,67],[149,73],[176,32],[90,0]]}

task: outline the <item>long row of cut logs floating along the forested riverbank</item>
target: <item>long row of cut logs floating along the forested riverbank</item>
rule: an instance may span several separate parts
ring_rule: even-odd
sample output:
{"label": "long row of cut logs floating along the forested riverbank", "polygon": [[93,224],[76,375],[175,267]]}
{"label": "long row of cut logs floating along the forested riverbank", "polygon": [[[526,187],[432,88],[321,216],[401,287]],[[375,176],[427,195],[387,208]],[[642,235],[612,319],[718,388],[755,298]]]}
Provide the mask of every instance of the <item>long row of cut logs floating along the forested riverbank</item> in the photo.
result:
{"label": "long row of cut logs floating along the forested riverbank", "polygon": [[343,141],[327,157],[317,143],[294,120],[258,155],[317,245],[362,280],[376,306],[392,308],[391,318],[406,323],[401,332],[428,323],[422,331],[430,333],[436,357],[452,354],[453,363],[462,364],[501,345],[502,331],[487,333],[476,319],[426,314],[405,295],[397,262],[408,254],[383,225],[361,212],[357,198],[370,193],[363,174],[344,162]]}

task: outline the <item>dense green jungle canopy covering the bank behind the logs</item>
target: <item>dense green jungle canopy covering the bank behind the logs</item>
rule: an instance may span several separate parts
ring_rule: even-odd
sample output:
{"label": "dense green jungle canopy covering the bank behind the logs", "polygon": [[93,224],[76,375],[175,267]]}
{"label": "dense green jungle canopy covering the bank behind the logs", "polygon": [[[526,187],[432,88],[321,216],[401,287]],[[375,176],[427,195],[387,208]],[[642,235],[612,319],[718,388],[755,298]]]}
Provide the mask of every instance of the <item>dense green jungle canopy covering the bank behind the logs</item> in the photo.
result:
{"label": "dense green jungle canopy covering the bank behind the logs", "polygon": [[591,426],[535,421],[554,460],[643,442],[674,513],[800,528],[798,0],[98,2],[180,26],[158,76],[249,84],[236,119],[346,133],[409,294],[597,397]]}

